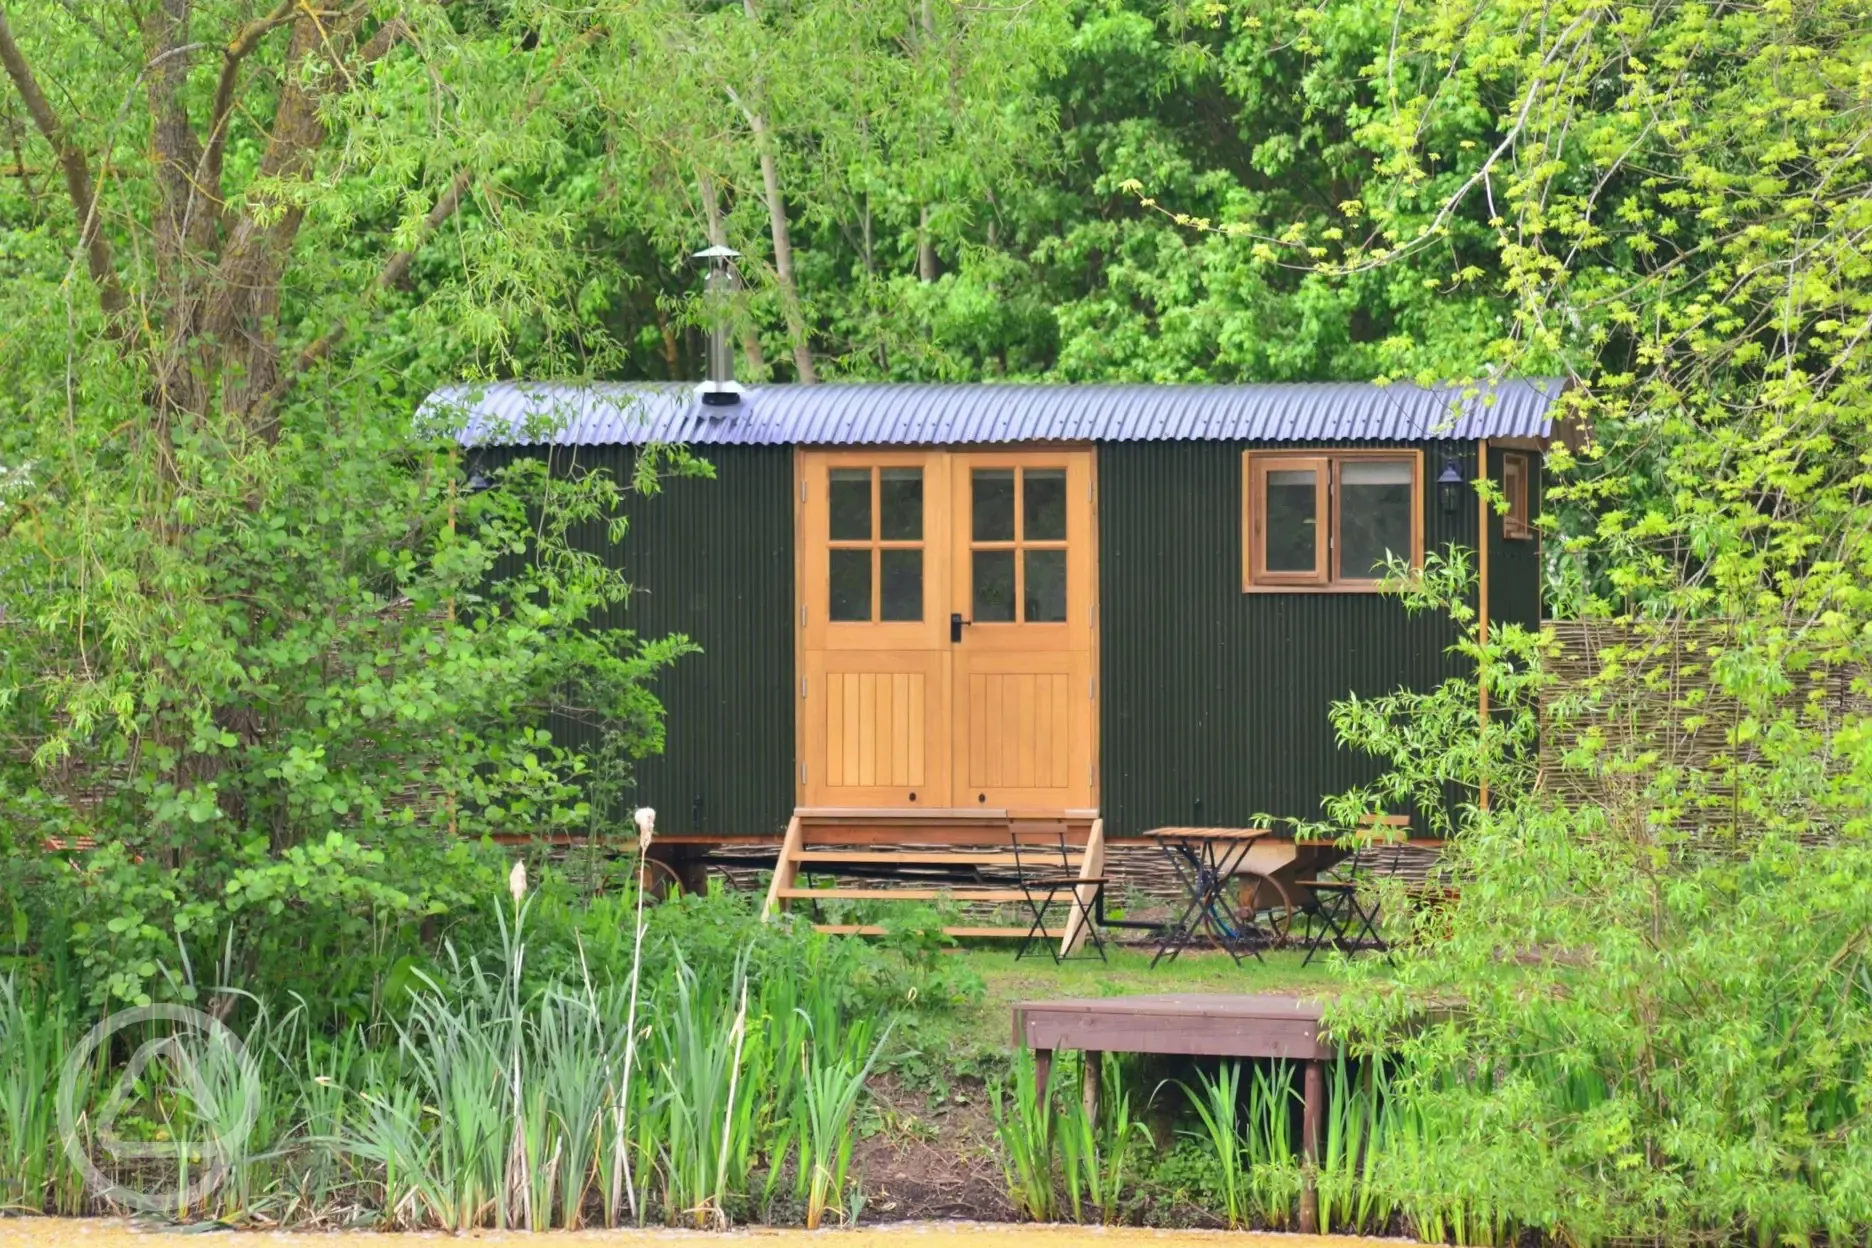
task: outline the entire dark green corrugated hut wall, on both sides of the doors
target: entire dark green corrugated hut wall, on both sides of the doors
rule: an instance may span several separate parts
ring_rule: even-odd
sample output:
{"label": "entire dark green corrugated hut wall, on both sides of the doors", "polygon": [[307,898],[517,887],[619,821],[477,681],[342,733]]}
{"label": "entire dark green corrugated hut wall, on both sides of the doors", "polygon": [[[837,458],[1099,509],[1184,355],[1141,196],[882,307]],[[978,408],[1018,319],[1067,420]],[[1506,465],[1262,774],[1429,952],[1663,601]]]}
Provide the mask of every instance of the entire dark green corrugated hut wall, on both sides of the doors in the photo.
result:
{"label": "entire dark green corrugated hut wall, on both sides of the doors", "polygon": [[[1320,799],[1368,776],[1325,718],[1348,692],[1426,687],[1453,668],[1447,621],[1382,595],[1241,593],[1243,443],[1099,447],[1101,805],[1106,833],[1164,823],[1312,818]],[[1280,449],[1295,449],[1282,443]],[[1425,445],[1430,548],[1475,546],[1475,500],[1445,516],[1434,481],[1447,443]],[[627,477],[627,447],[556,462]],[[618,546],[588,548],[638,593],[603,623],[642,636],[687,632],[704,653],[663,675],[661,758],[638,763],[633,803],[663,833],[773,833],[794,806],[792,447],[713,447],[717,479],[670,481],[635,501]],[[1458,453],[1464,475],[1475,447]],[[1499,481],[1499,457],[1490,455]],[[1539,619],[1535,543],[1492,522],[1490,614]],[[584,730],[554,722],[565,743]]]}

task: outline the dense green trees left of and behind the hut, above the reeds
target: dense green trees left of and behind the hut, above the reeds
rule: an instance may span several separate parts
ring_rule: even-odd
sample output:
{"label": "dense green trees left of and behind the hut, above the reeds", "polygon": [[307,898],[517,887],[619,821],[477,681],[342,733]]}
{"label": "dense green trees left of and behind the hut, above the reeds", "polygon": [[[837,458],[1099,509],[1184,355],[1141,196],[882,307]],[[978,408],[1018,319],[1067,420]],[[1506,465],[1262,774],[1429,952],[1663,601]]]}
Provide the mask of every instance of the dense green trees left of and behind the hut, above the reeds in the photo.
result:
{"label": "dense green trees left of and behind the hut, above the reeds", "polygon": [[1475,213],[1340,281],[1140,202],[1327,228],[1378,168],[1387,21],[7,0],[4,834],[112,846],[36,896],[140,997],[189,939],[449,909],[444,833],[586,820],[541,711],[657,748],[685,642],[586,632],[629,586],[560,535],[702,468],[468,496],[410,417],[459,378],[695,376],[706,241],[745,254],[753,376],[1473,370],[1507,327],[1449,277],[1496,245]]}

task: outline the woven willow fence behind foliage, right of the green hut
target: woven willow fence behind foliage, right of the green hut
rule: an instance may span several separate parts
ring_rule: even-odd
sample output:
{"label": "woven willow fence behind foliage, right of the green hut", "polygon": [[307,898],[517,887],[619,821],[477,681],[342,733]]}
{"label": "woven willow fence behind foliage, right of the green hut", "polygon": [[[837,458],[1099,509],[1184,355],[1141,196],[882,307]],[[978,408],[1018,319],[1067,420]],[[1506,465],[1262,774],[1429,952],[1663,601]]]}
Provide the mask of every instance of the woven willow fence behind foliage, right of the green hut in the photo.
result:
{"label": "woven willow fence behind foliage, right of the green hut", "polygon": [[1548,631],[1541,784],[1569,806],[1705,851],[1767,827],[1825,844],[1866,820],[1866,790],[1838,784],[1851,769],[1840,733],[1872,715],[1863,666],[1756,677],[1720,621]]}

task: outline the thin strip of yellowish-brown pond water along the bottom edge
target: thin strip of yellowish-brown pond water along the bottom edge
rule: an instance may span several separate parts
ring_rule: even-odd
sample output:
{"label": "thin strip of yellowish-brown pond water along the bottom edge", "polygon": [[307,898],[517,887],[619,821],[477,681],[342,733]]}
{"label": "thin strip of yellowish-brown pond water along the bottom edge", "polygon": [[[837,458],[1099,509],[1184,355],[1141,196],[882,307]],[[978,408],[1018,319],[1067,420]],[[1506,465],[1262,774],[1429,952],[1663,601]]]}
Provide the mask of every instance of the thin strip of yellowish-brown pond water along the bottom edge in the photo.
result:
{"label": "thin strip of yellowish-brown pond water along the bottom edge", "polygon": [[1249,1235],[1230,1231],[1146,1231],[1136,1227],[1082,1226],[1000,1226],[975,1222],[900,1222],[867,1226],[852,1231],[749,1229],[713,1235],[706,1231],[552,1231],[526,1235],[524,1231],[475,1231],[446,1235],[442,1231],[410,1231],[378,1235],[371,1231],[241,1231],[227,1235],[195,1235],[131,1226],[110,1218],[0,1218],[0,1248],[154,1248],[167,1244],[253,1244],[255,1248],[395,1248],[412,1242],[472,1242],[520,1248],[522,1244],[603,1244],[618,1248],[672,1248],[689,1241],[693,1248],[1355,1248],[1357,1244],[1400,1244],[1404,1241],[1344,1239],[1322,1235]]}

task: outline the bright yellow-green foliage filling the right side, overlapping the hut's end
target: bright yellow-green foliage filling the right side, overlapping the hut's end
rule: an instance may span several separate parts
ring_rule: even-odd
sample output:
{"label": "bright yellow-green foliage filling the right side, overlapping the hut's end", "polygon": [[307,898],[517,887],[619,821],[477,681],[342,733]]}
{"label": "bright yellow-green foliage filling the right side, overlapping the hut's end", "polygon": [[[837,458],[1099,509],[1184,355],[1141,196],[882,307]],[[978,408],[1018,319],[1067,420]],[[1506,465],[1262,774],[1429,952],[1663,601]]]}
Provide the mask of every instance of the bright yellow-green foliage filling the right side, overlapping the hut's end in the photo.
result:
{"label": "bright yellow-green foliage filling the right side, overlapping the hut's end", "polygon": [[[1516,303],[1501,361],[1561,361],[1593,425],[1552,460],[1558,597],[1591,664],[1544,690],[1548,784],[1496,769],[1473,732],[1456,745],[1492,769],[1488,808],[1453,820],[1460,900],[1393,906],[1382,990],[1353,969],[1368,992],[1346,1023],[1400,1055],[1398,1130],[1421,1141],[1391,1190],[1455,1211],[1421,1211],[1425,1235],[1872,1224],[1865,17],[1398,11],[1395,94],[1367,129],[1385,150],[1374,228],[1322,271],[1423,256],[1484,211],[1499,266],[1481,277]],[[1438,189],[1434,135],[1475,101],[1496,135]],[[1509,715],[1498,732],[1531,733],[1531,707]],[[1383,748],[1402,733],[1372,739],[1385,791],[1449,778]],[[1462,1010],[1408,1025],[1425,999]]]}

